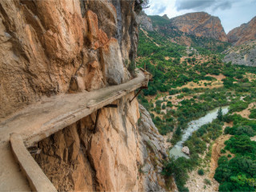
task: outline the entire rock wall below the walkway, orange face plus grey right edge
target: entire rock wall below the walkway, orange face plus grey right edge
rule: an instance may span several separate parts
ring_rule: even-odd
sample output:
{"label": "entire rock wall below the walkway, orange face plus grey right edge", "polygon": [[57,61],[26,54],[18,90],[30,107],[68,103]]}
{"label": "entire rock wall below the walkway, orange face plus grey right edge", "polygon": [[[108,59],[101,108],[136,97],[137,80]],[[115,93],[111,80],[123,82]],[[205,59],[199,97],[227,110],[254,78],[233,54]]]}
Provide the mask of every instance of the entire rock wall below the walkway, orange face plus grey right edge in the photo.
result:
{"label": "entire rock wall below the walkway, orange face plus grey right edge", "polygon": [[58,190],[164,190],[162,136],[133,96],[100,110],[96,129],[91,114],[38,142],[35,159]]}

